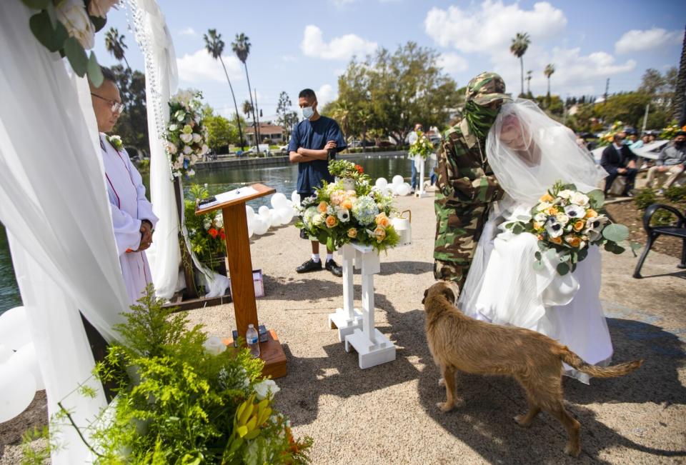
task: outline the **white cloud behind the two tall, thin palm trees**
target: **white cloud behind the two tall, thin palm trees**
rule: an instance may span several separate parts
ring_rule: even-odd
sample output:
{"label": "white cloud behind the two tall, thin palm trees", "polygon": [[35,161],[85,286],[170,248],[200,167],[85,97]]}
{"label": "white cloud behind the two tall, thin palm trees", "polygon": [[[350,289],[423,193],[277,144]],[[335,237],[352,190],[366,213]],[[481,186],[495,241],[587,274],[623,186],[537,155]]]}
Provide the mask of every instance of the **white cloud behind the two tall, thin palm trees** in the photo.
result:
{"label": "white cloud behind the two tall, thin palm trees", "polygon": [[[222,55],[224,64],[227,66],[229,79],[239,81],[243,79],[241,62],[236,56]],[[189,83],[217,81],[224,82],[227,77],[219,60],[212,58],[206,49],[200,49],[194,54],[185,54],[182,58],[177,58],[179,69],[179,79]]]}

